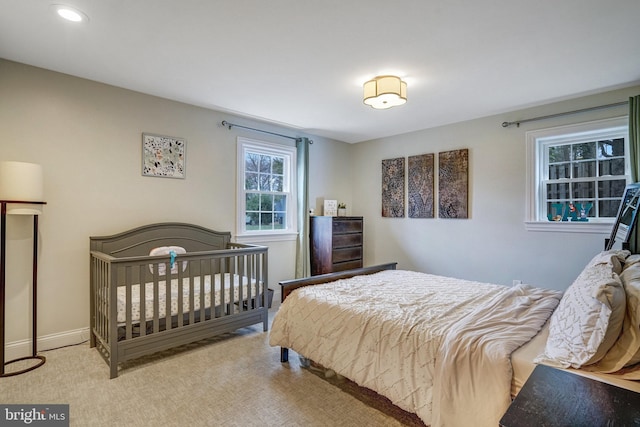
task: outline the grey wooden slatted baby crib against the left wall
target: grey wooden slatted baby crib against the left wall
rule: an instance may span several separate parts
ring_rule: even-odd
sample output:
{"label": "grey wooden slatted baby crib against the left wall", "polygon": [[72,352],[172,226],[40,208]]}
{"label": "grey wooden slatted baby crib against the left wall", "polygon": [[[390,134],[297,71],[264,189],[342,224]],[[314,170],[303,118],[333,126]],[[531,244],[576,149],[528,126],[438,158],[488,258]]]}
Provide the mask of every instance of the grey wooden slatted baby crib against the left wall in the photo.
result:
{"label": "grey wooden slatted baby crib against the left wall", "polygon": [[90,238],[90,346],[118,376],[134,358],[262,322],[268,248],[185,223]]}

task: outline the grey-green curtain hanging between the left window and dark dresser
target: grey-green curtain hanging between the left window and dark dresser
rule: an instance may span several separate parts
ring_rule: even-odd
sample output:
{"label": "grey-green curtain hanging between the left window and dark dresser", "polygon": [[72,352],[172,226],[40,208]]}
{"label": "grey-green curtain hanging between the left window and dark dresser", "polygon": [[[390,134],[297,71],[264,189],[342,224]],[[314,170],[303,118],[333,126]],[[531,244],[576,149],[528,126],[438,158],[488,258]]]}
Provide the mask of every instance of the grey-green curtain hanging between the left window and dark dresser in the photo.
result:
{"label": "grey-green curtain hanging between the left window and dark dresser", "polygon": [[298,191],[298,242],[296,245],[296,278],[309,276],[309,138],[296,141]]}

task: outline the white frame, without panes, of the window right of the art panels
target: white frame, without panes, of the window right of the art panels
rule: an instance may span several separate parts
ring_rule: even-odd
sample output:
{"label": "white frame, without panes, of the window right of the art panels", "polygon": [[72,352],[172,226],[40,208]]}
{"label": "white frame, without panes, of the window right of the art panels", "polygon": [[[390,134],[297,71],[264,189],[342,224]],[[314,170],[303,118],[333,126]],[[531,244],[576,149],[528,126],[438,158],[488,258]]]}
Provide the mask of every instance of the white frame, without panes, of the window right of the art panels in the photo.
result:
{"label": "white frame, without panes, of the window right of the art panels", "polygon": [[570,233],[611,232],[615,218],[593,219],[588,222],[549,221],[544,213],[546,206],[541,206],[544,199],[544,188],[541,185],[545,179],[544,147],[550,143],[571,142],[589,138],[609,139],[612,137],[625,140],[625,176],[627,184],[631,182],[629,165],[629,120],[627,116],[611,119],[594,120],[585,123],[557,126],[547,129],[528,131],[527,143],[527,188],[526,188],[526,219],[525,227],[528,231],[552,231]]}

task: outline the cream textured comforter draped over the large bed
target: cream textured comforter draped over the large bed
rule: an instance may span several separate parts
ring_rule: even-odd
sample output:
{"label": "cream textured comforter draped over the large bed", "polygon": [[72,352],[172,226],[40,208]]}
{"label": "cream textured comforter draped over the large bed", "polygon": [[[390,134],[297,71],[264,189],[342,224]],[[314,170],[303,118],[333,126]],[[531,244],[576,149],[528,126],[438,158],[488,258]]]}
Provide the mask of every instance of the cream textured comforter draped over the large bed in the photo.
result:
{"label": "cream textured comforter draped over the large bed", "polygon": [[496,426],[510,401],[513,350],[557,291],[383,271],[290,294],[270,344],[387,396],[432,426]]}

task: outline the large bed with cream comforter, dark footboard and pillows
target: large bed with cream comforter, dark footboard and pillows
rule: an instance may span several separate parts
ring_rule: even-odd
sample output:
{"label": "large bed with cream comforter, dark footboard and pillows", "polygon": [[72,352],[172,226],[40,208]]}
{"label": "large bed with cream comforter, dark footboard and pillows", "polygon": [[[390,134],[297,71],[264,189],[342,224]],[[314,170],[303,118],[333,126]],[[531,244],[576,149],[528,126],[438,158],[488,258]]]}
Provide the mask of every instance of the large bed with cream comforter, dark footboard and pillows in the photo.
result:
{"label": "large bed with cream comforter, dark footboard and pillows", "polygon": [[[640,256],[597,254],[563,293],[397,270],[281,282],[269,342],[431,426],[498,425],[536,363],[640,391]],[[563,344],[564,343],[564,344]]]}

